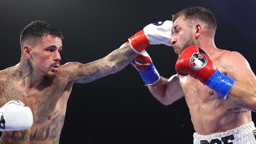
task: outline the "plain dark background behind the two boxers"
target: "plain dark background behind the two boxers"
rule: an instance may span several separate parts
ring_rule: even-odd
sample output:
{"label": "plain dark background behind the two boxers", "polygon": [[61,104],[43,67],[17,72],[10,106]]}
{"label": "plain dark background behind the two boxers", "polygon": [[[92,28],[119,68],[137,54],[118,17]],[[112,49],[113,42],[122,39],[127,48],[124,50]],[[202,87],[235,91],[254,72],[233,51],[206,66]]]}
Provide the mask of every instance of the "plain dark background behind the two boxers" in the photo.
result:
{"label": "plain dark background behind the two boxers", "polygon": [[[89,63],[119,48],[150,22],[171,20],[172,14],[191,6],[215,13],[216,46],[241,53],[255,71],[255,0],[1,0],[0,69],[19,63],[19,35],[33,20],[63,32],[61,64]],[[172,47],[154,45],[147,52],[161,76],[175,74]],[[91,83],[74,84],[67,105],[61,144],[193,143],[184,98],[162,105],[131,65]],[[256,120],[254,113],[252,117]]]}

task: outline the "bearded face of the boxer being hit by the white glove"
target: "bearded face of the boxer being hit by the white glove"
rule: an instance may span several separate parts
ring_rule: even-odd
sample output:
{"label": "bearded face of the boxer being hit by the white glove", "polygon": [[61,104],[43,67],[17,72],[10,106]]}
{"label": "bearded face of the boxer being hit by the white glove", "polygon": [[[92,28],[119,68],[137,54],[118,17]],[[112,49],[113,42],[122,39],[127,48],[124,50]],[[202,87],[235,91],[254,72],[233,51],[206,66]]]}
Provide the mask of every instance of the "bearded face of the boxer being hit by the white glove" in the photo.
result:
{"label": "bearded face of the boxer being hit by the white glove", "polygon": [[190,24],[190,21],[184,19],[184,17],[177,18],[173,24],[171,43],[173,44],[174,52],[179,56],[185,48],[195,44]]}

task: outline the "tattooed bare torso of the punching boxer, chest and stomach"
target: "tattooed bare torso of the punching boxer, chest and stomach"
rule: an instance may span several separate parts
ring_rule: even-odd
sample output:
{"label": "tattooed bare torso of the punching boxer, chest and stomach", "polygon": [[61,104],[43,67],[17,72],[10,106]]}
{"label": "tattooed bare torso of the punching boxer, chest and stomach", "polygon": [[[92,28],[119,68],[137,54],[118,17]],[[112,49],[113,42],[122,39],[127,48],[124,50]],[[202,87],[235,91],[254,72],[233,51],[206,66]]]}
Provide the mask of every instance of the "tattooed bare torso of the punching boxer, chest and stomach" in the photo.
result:
{"label": "tattooed bare torso of the punching boxer, chest and stomach", "polygon": [[0,106],[13,99],[22,101],[32,110],[33,125],[30,129],[3,131],[0,143],[58,144],[71,89],[67,78],[56,75],[38,89],[25,92],[15,67],[1,71]]}

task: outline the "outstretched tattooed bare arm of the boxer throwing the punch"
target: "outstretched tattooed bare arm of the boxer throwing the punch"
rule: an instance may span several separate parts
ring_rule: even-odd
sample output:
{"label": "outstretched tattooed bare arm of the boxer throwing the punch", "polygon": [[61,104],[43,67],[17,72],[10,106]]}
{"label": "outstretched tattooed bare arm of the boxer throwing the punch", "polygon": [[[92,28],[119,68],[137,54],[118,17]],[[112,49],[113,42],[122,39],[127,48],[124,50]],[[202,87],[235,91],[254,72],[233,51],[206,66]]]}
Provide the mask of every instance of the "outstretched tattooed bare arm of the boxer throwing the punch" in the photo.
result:
{"label": "outstretched tattooed bare arm of the boxer throwing the punch", "polygon": [[106,57],[91,63],[67,63],[63,65],[59,73],[70,74],[71,83],[89,83],[109,74],[114,74],[128,65],[137,54],[130,45],[114,50]]}

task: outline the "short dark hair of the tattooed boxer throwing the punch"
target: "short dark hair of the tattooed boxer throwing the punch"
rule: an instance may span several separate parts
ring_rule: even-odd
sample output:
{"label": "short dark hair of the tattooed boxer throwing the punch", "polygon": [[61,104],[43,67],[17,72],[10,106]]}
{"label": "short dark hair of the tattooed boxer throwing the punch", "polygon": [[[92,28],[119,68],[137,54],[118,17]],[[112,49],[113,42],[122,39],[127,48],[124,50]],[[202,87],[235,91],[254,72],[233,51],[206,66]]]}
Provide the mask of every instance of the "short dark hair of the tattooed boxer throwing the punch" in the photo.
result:
{"label": "short dark hair of the tattooed boxer throwing the punch", "polygon": [[53,37],[58,37],[63,40],[63,35],[61,31],[47,24],[46,22],[37,20],[28,24],[20,33],[20,44],[26,39],[36,39],[41,38],[44,35],[51,35]]}

